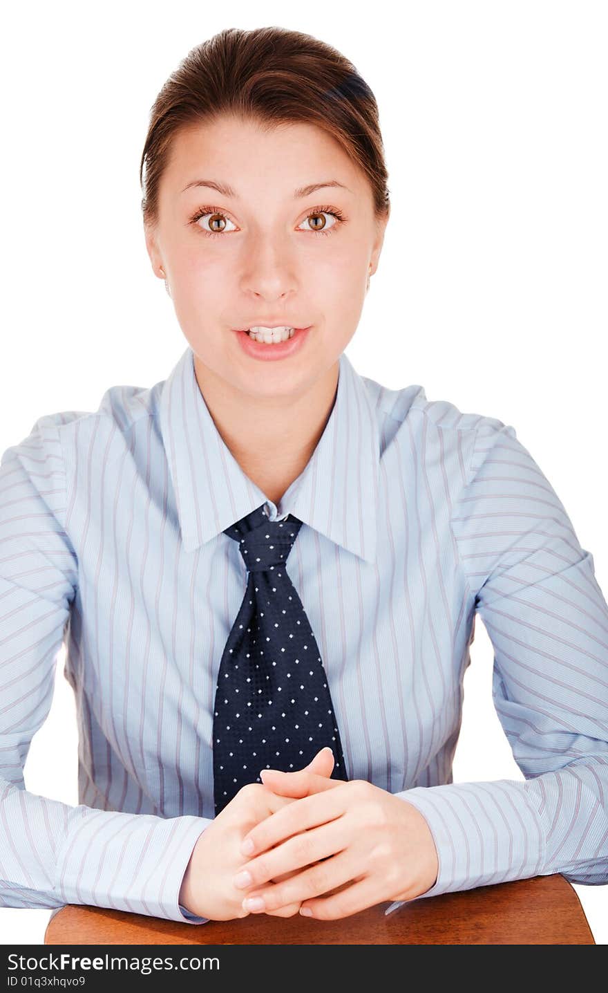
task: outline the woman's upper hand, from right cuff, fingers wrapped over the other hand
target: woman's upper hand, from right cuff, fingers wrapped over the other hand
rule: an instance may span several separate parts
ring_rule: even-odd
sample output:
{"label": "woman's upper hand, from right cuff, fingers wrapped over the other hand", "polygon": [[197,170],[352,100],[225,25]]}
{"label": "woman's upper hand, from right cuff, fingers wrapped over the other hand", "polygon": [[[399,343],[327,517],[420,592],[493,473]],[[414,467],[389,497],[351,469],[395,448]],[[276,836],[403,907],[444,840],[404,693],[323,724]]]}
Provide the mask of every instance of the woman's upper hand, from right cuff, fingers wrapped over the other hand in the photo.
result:
{"label": "woman's upper hand, from right cuff, fingers wrapped over the other hand", "polygon": [[382,901],[414,900],[434,885],[438,858],[423,814],[367,780],[329,779],[333,757],[330,762],[327,775],[309,767],[262,770],[266,787],[295,801],[242,840],[233,884],[243,890],[245,911],[272,914],[291,906],[296,909],[283,916],[299,908],[330,921]]}

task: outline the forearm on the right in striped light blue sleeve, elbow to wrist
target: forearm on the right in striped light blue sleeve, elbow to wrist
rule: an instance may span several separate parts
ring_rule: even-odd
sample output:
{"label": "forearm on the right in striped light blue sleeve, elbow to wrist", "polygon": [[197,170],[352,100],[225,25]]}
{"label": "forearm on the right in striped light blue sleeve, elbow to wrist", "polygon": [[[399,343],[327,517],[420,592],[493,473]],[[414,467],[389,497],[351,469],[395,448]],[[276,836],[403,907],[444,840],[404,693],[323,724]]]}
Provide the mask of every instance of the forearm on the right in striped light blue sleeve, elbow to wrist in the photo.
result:
{"label": "forearm on the right in striped light blue sleeve, elbow to wrist", "polygon": [[424,814],[437,849],[437,879],[421,898],[551,873],[608,882],[608,757],[585,756],[530,780],[396,795]]}

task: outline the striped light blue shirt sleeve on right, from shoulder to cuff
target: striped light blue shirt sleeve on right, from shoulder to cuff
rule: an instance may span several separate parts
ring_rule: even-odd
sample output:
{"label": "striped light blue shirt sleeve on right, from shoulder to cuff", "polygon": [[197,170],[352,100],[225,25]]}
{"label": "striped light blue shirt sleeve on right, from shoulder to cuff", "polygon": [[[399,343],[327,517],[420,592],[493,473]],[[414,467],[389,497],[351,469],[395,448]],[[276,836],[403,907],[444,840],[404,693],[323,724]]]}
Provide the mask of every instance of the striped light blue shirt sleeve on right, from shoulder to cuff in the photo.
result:
{"label": "striped light blue shirt sleeve on right, from shoulder to cuff", "polygon": [[608,605],[593,556],[515,429],[483,419],[472,461],[452,529],[494,648],[493,703],[524,780],[396,794],[423,813],[437,849],[437,879],[421,897],[551,873],[601,886]]}

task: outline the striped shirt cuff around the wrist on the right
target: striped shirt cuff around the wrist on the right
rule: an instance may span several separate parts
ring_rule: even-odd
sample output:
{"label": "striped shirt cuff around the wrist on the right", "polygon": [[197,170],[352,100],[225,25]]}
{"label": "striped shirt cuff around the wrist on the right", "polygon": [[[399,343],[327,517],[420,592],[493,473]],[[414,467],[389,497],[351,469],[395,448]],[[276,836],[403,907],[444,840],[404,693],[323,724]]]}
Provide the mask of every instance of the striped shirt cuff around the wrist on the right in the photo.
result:
{"label": "striped shirt cuff around the wrist on the right", "polygon": [[[547,839],[528,783],[519,780],[415,786],[394,793],[426,818],[437,878],[416,900],[543,875]],[[395,901],[391,914],[410,901]]]}

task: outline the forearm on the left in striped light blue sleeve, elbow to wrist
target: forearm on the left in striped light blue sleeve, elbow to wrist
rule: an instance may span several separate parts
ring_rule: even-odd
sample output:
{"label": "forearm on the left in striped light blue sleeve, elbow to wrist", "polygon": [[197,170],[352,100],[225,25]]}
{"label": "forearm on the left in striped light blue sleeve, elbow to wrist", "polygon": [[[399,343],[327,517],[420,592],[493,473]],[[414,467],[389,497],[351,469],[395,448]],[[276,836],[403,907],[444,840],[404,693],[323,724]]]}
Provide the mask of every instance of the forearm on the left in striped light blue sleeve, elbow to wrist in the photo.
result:
{"label": "forearm on the left in striped light blue sleeve, elbow to wrist", "polygon": [[0,906],[86,904],[166,918],[179,896],[204,817],[70,806],[0,780]]}

